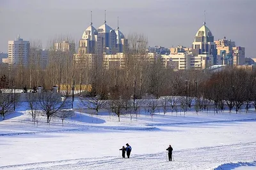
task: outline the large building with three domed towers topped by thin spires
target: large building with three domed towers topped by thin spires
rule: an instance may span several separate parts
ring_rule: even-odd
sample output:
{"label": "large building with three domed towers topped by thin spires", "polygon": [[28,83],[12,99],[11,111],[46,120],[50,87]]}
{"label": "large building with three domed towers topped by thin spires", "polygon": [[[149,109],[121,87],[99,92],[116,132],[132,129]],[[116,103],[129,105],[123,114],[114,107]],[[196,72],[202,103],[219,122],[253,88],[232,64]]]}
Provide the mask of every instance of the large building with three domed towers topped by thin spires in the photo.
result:
{"label": "large building with three domed towers topped by thin spires", "polygon": [[112,29],[105,18],[104,24],[96,29],[91,18],[90,26],[83,32],[79,41],[78,53],[74,54],[74,60],[77,64],[80,62],[90,67],[94,66],[95,62],[103,63],[104,67],[111,67],[111,64],[116,63],[120,56],[124,55],[127,48],[128,39],[120,31],[119,25],[116,30]]}

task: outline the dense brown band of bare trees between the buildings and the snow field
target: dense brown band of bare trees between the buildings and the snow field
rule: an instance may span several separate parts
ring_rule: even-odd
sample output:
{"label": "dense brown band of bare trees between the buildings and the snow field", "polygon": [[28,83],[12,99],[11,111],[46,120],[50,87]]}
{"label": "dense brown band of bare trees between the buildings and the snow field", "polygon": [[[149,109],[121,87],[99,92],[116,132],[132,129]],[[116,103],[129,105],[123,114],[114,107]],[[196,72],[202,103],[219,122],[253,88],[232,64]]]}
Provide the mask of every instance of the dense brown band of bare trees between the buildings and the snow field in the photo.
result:
{"label": "dense brown band of bare trees between the buildings and the snow field", "polygon": [[[145,36],[131,34],[128,39],[129,49],[125,50],[122,67],[120,62],[113,62],[108,69],[100,61],[100,55],[94,60],[84,57],[75,62],[72,53],[52,49],[56,41],[74,42],[67,37],[54,39],[49,43],[48,63],[42,66],[38,58],[40,54],[37,53],[42,48],[42,43],[32,42],[27,66],[17,64],[10,67],[0,64],[0,88],[36,89],[43,86],[45,90],[51,90],[53,86],[57,86],[60,92],[60,86],[63,85],[68,97],[74,85],[80,87],[80,90],[82,85],[91,85],[92,90],[81,90],[81,96],[99,96],[100,100],[113,101],[112,106],[121,102],[124,105],[122,109],[127,103],[120,99],[132,100],[132,107],[136,109],[136,100],[148,96],[156,99],[161,96],[183,96],[179,104],[184,111],[191,108],[191,105],[196,106],[196,110],[201,110],[207,103],[214,103],[215,111],[223,110],[224,106],[228,106],[230,111],[233,108],[239,111],[243,106],[246,111],[251,106],[256,109],[255,71],[236,67],[226,67],[215,73],[207,69],[173,71],[172,67],[163,67],[161,57],[148,58]],[[0,95],[2,101],[4,95],[6,96],[4,93]],[[9,98],[14,101],[13,96]],[[174,110],[173,103],[177,101],[171,97],[163,103],[168,103]],[[115,107],[112,108],[116,110]],[[3,106],[1,111],[3,113]]]}

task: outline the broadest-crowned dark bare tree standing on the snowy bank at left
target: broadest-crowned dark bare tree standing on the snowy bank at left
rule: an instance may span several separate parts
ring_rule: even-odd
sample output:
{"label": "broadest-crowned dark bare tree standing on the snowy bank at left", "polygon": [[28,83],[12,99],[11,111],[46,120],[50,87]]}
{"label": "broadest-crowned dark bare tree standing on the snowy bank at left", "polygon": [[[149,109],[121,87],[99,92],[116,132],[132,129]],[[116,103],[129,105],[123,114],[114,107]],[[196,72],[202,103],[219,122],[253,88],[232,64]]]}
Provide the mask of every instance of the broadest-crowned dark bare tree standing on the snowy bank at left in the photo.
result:
{"label": "broadest-crowned dark bare tree standing on the snowy bank at left", "polygon": [[40,108],[45,111],[47,115],[47,123],[50,124],[51,118],[54,114],[65,107],[67,97],[61,101],[60,94],[52,92],[42,92],[38,96]]}

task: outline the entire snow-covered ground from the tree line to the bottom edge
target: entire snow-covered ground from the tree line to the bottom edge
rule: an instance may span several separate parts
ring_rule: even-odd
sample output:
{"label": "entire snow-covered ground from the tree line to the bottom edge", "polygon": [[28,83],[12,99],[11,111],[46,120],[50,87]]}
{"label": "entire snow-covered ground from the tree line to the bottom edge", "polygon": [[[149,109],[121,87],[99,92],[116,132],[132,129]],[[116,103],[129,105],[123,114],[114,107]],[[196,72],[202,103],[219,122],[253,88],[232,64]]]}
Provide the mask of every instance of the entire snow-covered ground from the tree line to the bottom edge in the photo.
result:
{"label": "entire snow-covered ground from the tree line to the bottom edge", "polygon": [[[24,103],[0,121],[0,169],[256,169],[256,113],[141,114],[31,122]],[[130,159],[120,158],[125,143]],[[166,148],[173,147],[173,162]]]}

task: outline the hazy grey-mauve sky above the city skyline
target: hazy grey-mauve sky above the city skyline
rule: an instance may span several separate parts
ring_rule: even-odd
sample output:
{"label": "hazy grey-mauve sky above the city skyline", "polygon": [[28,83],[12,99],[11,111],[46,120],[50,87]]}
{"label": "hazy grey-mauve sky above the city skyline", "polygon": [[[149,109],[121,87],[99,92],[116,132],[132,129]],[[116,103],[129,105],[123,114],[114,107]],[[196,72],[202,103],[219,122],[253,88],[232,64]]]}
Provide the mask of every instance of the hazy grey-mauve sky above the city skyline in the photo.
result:
{"label": "hazy grey-mauve sky above the city skyline", "polygon": [[90,25],[104,22],[119,27],[125,35],[143,33],[150,46],[191,46],[204,21],[214,39],[236,41],[246,48],[246,57],[256,58],[255,0],[0,0],[0,51],[7,52],[8,40],[51,39],[68,35],[79,41]]}

